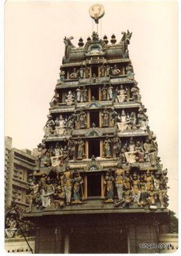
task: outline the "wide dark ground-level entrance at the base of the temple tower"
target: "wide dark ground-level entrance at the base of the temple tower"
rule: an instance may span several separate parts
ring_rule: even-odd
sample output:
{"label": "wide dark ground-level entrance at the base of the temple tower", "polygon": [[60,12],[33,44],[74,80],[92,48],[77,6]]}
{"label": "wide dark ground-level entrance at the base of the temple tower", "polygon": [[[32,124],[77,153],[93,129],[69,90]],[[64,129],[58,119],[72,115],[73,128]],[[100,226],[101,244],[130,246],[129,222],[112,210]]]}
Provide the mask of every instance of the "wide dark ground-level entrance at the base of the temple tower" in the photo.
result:
{"label": "wide dark ground-level entrance at the base of the temple tower", "polygon": [[69,253],[128,253],[127,234],[122,230],[74,230]]}

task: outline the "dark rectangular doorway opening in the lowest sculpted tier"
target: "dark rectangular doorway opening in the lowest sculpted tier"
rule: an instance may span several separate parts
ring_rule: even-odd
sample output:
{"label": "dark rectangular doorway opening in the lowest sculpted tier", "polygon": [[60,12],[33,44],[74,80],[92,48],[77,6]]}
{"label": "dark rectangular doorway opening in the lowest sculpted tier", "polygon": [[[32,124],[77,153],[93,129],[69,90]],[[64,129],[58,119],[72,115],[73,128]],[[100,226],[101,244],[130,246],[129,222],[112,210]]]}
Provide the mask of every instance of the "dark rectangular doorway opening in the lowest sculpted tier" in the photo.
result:
{"label": "dark rectangular doorway opening in the lowest sculpted tier", "polygon": [[101,175],[88,175],[88,197],[101,196]]}

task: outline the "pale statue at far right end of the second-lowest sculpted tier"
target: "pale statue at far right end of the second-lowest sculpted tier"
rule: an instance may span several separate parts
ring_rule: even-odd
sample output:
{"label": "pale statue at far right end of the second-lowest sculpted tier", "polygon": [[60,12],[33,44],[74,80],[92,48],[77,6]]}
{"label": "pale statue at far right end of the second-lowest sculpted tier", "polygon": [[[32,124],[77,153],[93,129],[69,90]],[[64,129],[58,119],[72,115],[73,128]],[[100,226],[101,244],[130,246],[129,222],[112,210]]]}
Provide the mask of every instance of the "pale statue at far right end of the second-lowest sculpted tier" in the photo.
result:
{"label": "pale statue at far right end of the second-lowest sculpted tier", "polygon": [[155,166],[157,163],[157,148],[150,143],[149,138],[146,138],[145,143],[143,144],[143,149],[145,150],[145,159],[150,162],[152,166]]}

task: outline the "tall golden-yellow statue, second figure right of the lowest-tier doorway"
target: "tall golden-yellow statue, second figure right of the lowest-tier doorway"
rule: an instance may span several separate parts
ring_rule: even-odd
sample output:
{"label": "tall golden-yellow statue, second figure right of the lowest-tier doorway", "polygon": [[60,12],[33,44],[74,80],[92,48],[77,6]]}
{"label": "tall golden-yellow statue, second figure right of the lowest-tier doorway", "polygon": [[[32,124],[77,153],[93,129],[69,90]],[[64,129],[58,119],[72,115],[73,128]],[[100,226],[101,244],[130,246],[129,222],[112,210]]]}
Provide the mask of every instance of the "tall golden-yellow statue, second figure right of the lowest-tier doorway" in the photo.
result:
{"label": "tall golden-yellow statue, second figure right of the lowest-tier doorway", "polygon": [[124,170],[122,169],[122,164],[118,164],[118,168],[115,172],[115,185],[118,195],[118,201],[123,200],[123,184],[124,184]]}

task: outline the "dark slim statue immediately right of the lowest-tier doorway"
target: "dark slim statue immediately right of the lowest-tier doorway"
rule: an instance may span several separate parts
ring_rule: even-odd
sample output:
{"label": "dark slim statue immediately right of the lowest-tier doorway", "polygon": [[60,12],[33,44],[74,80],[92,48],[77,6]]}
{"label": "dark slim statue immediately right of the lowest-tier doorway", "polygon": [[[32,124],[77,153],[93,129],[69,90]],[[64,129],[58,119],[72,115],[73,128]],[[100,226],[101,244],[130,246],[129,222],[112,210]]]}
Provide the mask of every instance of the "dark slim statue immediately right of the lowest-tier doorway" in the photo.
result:
{"label": "dark slim statue immediately right of the lowest-tier doorway", "polygon": [[106,186],[106,190],[107,190],[107,200],[105,201],[105,203],[113,203],[113,195],[114,195],[114,177],[111,173],[111,169],[109,169],[109,171],[107,171],[106,173],[106,177],[104,179],[104,184]]}

